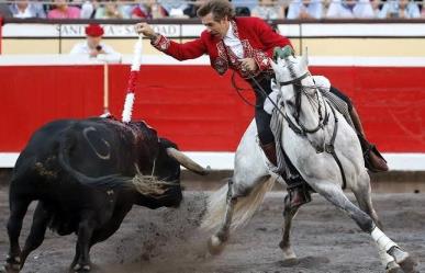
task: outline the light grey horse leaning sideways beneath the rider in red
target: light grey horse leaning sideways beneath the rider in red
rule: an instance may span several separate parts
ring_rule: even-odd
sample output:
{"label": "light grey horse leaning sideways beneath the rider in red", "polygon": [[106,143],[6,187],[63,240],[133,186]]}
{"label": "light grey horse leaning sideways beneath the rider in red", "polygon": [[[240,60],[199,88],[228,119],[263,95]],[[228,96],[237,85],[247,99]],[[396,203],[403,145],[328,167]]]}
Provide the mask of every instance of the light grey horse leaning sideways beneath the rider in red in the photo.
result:
{"label": "light grey horse leaning sideways beneath the rider in red", "polygon": [[[417,272],[414,259],[382,231],[355,130],[318,91],[309,72],[306,55],[293,56],[284,50],[276,62],[272,61],[280,109],[275,114],[282,125],[277,141],[305,182],[371,236],[387,272]],[[202,228],[219,228],[209,239],[212,254],[223,250],[231,229],[250,219],[276,181],[284,183],[270,171],[256,132],[256,124],[251,122],[236,150],[233,177],[227,185],[210,196]],[[347,198],[343,185],[354,192],[359,207]],[[283,236],[279,243],[284,261],[297,261],[290,229],[298,209],[299,206],[290,205],[287,196]]]}

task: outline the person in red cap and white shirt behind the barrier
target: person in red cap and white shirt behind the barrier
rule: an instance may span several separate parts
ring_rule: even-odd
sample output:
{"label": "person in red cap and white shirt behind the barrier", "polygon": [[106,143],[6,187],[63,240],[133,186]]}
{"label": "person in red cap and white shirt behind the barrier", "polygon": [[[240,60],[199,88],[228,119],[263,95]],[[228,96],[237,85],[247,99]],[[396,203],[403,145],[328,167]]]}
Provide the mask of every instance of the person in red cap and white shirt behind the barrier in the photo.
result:
{"label": "person in red cap and white shirt behind the barrier", "polygon": [[99,24],[89,24],[86,26],[86,42],[76,44],[70,50],[70,54],[120,61],[121,54],[116,53],[111,46],[102,43],[103,33],[103,27]]}

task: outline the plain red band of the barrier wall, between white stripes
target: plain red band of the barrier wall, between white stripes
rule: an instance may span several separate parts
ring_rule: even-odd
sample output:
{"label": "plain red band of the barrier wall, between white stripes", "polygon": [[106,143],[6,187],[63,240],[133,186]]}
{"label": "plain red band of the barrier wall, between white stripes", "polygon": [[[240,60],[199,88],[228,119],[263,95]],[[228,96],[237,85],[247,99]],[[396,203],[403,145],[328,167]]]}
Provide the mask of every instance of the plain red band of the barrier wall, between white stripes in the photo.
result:
{"label": "plain red band of the barrier wall, between white stripes", "polygon": [[[20,151],[32,132],[56,118],[100,115],[102,66],[0,67],[0,151]],[[110,111],[121,118],[128,66],[110,66]],[[357,105],[368,137],[387,152],[425,151],[425,68],[312,67]],[[239,80],[239,84],[243,82]],[[253,99],[250,91],[244,95]],[[251,100],[253,101],[253,100]],[[253,117],[208,66],[142,67],[133,117],[183,150],[233,151]]]}

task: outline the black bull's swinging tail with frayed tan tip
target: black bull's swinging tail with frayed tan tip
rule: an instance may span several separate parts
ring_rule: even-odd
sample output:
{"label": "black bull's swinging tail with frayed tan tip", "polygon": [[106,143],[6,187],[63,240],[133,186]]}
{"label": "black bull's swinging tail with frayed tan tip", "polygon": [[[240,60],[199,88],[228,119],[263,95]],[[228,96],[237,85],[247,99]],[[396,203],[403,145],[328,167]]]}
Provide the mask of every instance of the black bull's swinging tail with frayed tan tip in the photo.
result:
{"label": "black bull's swinging tail with frayed tan tip", "polygon": [[169,184],[169,182],[157,181],[153,177],[145,177],[138,172],[134,177],[124,177],[122,174],[109,174],[98,178],[88,177],[78,170],[74,169],[69,161],[69,150],[72,147],[71,139],[66,136],[60,141],[58,161],[60,167],[68,172],[74,179],[76,179],[80,184],[85,184],[92,187],[103,187],[103,189],[128,189],[135,190],[144,195],[161,195],[165,190],[163,186]]}

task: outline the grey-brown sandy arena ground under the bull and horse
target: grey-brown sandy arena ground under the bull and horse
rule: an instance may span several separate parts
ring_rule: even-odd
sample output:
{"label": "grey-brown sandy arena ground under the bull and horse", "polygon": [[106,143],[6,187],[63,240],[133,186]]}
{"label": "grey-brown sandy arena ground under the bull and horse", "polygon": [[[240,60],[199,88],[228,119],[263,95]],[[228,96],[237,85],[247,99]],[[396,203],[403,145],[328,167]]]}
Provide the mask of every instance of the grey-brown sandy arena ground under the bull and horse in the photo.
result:
{"label": "grey-brown sandy arena ground under the bull and horse", "polygon": [[[370,237],[316,194],[293,224],[292,244],[300,259],[298,264],[282,263],[278,247],[283,192],[269,193],[251,221],[232,234],[224,252],[211,257],[205,247],[210,234],[198,229],[206,195],[208,192],[186,192],[178,209],[149,211],[135,206],[119,231],[92,249],[93,272],[384,272]],[[425,272],[425,194],[376,194],[373,201],[387,235],[410,251],[420,262],[420,272]],[[34,204],[25,218],[24,236],[33,209]],[[0,187],[1,259],[8,248],[8,189],[3,186]],[[22,272],[67,272],[75,240],[75,236],[59,237],[47,231],[44,243],[29,257]]]}

